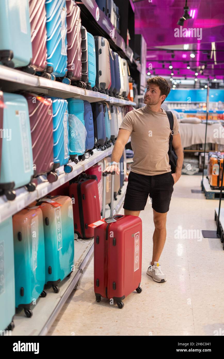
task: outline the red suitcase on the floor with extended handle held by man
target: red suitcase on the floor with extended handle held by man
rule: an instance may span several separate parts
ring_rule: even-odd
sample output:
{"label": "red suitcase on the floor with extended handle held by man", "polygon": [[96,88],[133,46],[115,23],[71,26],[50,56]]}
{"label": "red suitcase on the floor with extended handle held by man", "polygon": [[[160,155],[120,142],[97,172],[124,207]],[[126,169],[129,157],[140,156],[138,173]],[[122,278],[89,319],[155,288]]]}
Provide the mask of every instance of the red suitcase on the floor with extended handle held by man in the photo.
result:
{"label": "red suitcase on the floor with extended handle held by man", "polygon": [[[106,176],[103,172],[103,218],[105,216]],[[142,222],[137,216],[113,216],[114,176],[111,181],[111,215],[94,228],[94,292],[101,297],[122,300],[136,290],[141,293]]]}

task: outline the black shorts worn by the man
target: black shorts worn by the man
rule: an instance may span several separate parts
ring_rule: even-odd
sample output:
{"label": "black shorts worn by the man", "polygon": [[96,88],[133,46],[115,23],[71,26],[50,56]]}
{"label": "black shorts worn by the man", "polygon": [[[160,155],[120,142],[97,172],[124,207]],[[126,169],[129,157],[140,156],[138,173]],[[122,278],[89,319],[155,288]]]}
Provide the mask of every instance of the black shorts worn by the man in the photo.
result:
{"label": "black shorts worn by the man", "polygon": [[173,193],[174,179],[171,172],[146,176],[130,172],[123,208],[130,211],[145,209],[147,199],[152,208],[159,213],[166,213]]}

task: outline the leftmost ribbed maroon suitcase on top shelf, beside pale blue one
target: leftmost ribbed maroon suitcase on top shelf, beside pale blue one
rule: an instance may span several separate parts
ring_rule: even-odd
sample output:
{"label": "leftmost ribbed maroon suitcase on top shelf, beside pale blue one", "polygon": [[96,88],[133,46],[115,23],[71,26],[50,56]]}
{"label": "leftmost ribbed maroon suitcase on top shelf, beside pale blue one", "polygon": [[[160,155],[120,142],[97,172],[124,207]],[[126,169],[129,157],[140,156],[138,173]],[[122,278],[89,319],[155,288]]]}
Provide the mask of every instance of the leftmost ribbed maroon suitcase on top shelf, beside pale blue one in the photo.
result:
{"label": "leftmost ribbed maroon suitcase on top shelf, beside pale blue one", "polygon": [[36,71],[45,71],[47,66],[45,0],[29,0],[29,19],[33,53],[31,66]]}

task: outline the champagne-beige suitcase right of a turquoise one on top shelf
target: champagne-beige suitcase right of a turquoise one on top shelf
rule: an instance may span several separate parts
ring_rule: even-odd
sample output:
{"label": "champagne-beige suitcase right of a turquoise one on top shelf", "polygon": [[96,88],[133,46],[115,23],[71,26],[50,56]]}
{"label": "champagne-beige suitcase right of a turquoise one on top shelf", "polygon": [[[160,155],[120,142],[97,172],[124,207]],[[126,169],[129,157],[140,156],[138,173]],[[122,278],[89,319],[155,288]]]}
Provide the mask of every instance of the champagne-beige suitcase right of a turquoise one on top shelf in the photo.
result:
{"label": "champagne-beige suitcase right of a turquoise one on top shelf", "polygon": [[106,93],[111,86],[110,48],[108,40],[102,36],[94,36],[96,50],[96,87]]}

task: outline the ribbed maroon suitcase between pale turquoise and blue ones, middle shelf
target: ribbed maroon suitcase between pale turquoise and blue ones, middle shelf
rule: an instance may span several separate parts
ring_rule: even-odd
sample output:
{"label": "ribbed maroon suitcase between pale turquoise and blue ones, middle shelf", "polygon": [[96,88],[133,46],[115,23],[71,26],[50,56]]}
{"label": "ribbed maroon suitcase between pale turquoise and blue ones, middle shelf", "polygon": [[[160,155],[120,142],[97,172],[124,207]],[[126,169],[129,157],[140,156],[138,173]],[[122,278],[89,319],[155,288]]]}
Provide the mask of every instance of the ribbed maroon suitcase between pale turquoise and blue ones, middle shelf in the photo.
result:
{"label": "ribbed maroon suitcase between pale turquoise and blue ones, middle shelf", "polygon": [[37,94],[25,94],[28,102],[33,150],[34,177],[47,173],[49,182],[57,180],[53,171],[52,100]]}

